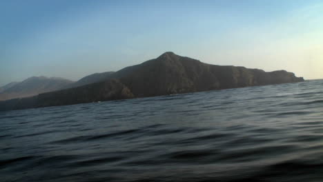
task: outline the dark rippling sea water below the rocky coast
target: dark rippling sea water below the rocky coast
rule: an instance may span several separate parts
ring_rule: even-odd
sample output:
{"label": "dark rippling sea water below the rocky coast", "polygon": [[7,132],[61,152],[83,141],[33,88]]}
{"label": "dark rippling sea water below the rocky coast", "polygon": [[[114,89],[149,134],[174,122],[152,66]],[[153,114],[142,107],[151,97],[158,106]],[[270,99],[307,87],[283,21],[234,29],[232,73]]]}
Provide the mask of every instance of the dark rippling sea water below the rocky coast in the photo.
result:
{"label": "dark rippling sea water below the rocky coast", "polygon": [[323,181],[323,80],[0,112],[0,181]]}

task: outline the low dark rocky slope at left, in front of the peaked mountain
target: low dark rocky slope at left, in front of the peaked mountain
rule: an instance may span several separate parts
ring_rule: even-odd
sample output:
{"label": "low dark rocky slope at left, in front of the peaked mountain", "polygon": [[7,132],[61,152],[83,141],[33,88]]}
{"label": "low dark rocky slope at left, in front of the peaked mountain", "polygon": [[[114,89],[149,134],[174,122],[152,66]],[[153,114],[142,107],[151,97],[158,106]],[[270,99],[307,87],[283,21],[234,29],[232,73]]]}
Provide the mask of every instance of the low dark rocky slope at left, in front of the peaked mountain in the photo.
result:
{"label": "low dark rocky slope at left, in front of the peaked mountain", "polygon": [[47,92],[35,97],[0,101],[0,110],[21,110],[55,105],[131,99],[133,97],[135,96],[126,85],[116,79],[110,79],[108,81],[84,85],[79,88]]}

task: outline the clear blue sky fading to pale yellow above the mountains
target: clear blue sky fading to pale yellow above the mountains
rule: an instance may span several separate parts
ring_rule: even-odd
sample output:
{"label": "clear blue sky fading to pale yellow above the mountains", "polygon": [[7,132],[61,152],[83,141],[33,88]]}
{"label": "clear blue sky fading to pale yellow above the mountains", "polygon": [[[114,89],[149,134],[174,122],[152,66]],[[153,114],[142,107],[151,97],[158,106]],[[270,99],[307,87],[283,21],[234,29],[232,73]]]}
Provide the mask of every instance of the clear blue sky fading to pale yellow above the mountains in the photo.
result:
{"label": "clear blue sky fading to pale yellow above the mountains", "polygon": [[0,85],[77,81],[166,51],[323,79],[323,1],[0,1]]}

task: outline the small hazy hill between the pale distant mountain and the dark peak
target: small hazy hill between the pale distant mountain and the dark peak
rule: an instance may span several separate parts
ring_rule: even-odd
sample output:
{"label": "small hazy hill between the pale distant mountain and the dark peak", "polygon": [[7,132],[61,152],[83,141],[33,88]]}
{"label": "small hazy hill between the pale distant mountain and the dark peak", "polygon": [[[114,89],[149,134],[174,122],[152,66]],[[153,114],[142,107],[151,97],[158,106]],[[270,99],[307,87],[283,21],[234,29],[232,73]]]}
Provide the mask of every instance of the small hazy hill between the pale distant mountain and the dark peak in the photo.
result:
{"label": "small hazy hill between the pale distant mountain and the dark peak", "polygon": [[97,83],[100,81],[104,81],[108,79],[113,73],[115,72],[100,72],[100,73],[90,74],[86,77],[79,79],[79,81],[76,81],[75,83],[67,85],[66,88],[76,88],[79,86],[88,85],[90,83]]}

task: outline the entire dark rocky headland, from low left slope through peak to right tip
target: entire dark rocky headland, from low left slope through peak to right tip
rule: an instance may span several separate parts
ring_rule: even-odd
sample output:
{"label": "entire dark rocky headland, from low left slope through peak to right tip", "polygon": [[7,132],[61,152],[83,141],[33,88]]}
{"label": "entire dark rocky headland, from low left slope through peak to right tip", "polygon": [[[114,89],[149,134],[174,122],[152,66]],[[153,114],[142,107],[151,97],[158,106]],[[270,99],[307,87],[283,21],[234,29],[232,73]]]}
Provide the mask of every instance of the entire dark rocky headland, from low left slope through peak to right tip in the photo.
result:
{"label": "entire dark rocky headland, from low left slope through peak to right tip", "polygon": [[30,98],[2,101],[0,110],[153,97],[299,81],[304,81],[304,79],[295,77],[295,74],[285,70],[264,72],[231,65],[211,65],[196,59],[181,57],[173,52],[165,52],[156,59],[111,73],[105,81],[47,92]]}

